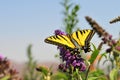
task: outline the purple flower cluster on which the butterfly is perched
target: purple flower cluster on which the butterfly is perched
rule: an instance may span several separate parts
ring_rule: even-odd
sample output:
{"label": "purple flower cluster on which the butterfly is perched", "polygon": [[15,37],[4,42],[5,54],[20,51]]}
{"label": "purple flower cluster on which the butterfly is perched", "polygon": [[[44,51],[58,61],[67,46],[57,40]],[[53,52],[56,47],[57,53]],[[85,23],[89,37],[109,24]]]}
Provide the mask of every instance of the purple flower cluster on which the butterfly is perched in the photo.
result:
{"label": "purple flower cluster on which the butterfly is perched", "polygon": [[[62,32],[61,30],[55,30],[55,35],[67,35],[67,34],[65,32]],[[76,69],[78,69],[79,71],[86,70],[84,59],[81,57],[80,54],[71,53],[63,46],[58,46],[58,49],[60,50],[60,59],[63,61],[63,63],[59,65],[60,70],[66,72],[71,67],[73,67],[73,70]]]}

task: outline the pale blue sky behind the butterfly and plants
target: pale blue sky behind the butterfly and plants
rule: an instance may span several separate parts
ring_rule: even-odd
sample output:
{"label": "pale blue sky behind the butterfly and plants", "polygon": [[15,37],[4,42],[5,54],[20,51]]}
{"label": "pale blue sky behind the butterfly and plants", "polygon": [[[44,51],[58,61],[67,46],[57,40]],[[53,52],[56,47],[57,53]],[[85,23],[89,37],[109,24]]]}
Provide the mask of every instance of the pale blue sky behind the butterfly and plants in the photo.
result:
{"label": "pale blue sky behind the butterfly and plants", "polygon": [[[55,29],[63,29],[63,0],[0,0],[0,53],[9,59],[26,61],[26,48],[33,44],[36,60],[56,60],[56,47],[44,43],[44,39]],[[79,24],[82,29],[90,28],[85,16],[95,19],[104,29],[118,37],[120,23],[109,21],[120,16],[120,1],[72,0],[80,5]]]}

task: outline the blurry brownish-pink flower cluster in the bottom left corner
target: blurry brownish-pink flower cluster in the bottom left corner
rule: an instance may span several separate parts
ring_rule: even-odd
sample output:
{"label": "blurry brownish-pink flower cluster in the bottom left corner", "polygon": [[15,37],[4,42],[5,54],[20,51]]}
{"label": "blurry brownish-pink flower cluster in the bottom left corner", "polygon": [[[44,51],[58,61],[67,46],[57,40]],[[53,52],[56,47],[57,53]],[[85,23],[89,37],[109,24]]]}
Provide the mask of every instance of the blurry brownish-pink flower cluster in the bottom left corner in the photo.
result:
{"label": "blurry brownish-pink flower cluster in the bottom left corner", "polygon": [[16,69],[10,68],[10,61],[7,58],[0,56],[0,80],[8,76],[7,80],[21,80],[17,76]]}

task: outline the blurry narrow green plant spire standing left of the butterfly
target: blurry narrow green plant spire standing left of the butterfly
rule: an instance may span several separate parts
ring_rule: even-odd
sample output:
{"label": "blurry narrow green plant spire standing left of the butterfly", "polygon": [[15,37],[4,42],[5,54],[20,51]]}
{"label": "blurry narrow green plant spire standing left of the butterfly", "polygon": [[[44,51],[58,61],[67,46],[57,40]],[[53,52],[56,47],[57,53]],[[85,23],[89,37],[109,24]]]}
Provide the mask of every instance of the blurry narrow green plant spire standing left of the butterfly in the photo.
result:
{"label": "blurry narrow green plant spire standing left of the butterfly", "polygon": [[24,80],[37,80],[40,76],[36,72],[36,61],[34,60],[31,52],[32,45],[30,44],[27,48],[28,62],[26,63],[26,70],[24,71]]}

